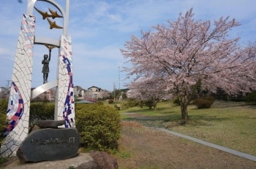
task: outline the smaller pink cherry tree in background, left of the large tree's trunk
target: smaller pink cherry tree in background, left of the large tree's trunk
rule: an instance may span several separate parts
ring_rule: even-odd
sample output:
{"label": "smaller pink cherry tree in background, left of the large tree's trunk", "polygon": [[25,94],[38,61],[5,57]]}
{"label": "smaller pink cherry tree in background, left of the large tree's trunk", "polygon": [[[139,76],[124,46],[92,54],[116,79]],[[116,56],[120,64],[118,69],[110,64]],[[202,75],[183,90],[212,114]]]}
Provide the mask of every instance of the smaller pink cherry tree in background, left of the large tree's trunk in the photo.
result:
{"label": "smaller pink cherry tree in background, left of the large tree's trunk", "polygon": [[172,98],[163,83],[165,82],[158,79],[140,79],[138,82],[132,82],[129,84],[131,97],[140,101],[152,101],[156,110],[159,101]]}

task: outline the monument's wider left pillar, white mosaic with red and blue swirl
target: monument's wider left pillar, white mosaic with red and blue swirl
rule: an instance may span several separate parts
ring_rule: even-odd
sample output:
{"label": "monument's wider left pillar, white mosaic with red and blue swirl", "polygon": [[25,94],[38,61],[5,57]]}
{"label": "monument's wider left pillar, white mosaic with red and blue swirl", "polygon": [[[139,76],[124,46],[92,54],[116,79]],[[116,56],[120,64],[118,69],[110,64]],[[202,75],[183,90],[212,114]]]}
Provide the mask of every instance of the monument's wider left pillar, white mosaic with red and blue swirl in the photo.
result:
{"label": "monument's wider left pillar, white mosaic with red and blue swirl", "polygon": [[7,118],[1,157],[15,157],[18,146],[29,133],[32,56],[34,50],[35,17],[23,15],[12,71]]}

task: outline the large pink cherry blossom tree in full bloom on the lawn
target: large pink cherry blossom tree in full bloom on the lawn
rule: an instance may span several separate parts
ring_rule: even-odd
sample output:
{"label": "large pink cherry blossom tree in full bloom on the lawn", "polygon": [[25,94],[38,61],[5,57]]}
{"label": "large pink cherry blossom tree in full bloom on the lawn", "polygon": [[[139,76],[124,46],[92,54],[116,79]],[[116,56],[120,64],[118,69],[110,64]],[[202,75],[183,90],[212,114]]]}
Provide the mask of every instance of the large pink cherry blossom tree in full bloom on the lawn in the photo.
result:
{"label": "large pink cherry blossom tree in full bloom on the lawn", "polygon": [[141,31],[121,49],[131,67],[124,68],[127,78],[158,77],[166,90],[181,103],[181,118],[189,119],[187,106],[197,88],[227,94],[250,92],[255,88],[255,45],[242,47],[239,38],[228,31],[240,25],[235,19],[195,20],[192,9],[168,25],[155,25],[154,31]]}

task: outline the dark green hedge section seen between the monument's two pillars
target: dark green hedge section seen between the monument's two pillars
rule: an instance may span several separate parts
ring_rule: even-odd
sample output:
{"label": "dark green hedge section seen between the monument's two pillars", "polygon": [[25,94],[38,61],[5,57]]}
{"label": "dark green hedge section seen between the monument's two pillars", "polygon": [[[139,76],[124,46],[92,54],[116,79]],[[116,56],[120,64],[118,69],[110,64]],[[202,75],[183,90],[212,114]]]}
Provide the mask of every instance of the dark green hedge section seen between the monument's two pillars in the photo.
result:
{"label": "dark green hedge section seen between the monument's two pillars", "polygon": [[38,120],[53,120],[54,109],[54,103],[31,103],[29,111],[29,133]]}

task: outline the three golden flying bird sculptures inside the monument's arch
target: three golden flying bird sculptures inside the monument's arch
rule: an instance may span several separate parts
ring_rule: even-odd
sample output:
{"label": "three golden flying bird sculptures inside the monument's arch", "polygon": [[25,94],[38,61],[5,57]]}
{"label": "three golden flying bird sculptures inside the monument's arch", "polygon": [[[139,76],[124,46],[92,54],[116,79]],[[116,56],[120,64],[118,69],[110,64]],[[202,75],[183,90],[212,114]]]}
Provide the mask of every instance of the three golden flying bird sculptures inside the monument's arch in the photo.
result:
{"label": "three golden flying bird sculptures inside the monument's arch", "polygon": [[59,14],[57,13],[57,11],[53,11],[53,10],[50,9],[50,7],[49,7],[48,9],[49,9],[49,11],[50,11],[50,14],[48,14],[48,12],[42,12],[42,11],[40,11],[39,9],[37,9],[36,7],[34,7],[34,9],[36,9],[37,12],[39,12],[39,14],[42,15],[42,19],[43,19],[43,20],[45,20],[45,18],[47,18],[48,23],[50,24],[50,29],[53,29],[53,28],[63,28],[63,27],[57,25],[55,21],[53,22],[52,20],[49,19],[49,17],[52,17],[53,19],[55,19],[56,17],[63,17],[63,16],[59,15]]}

